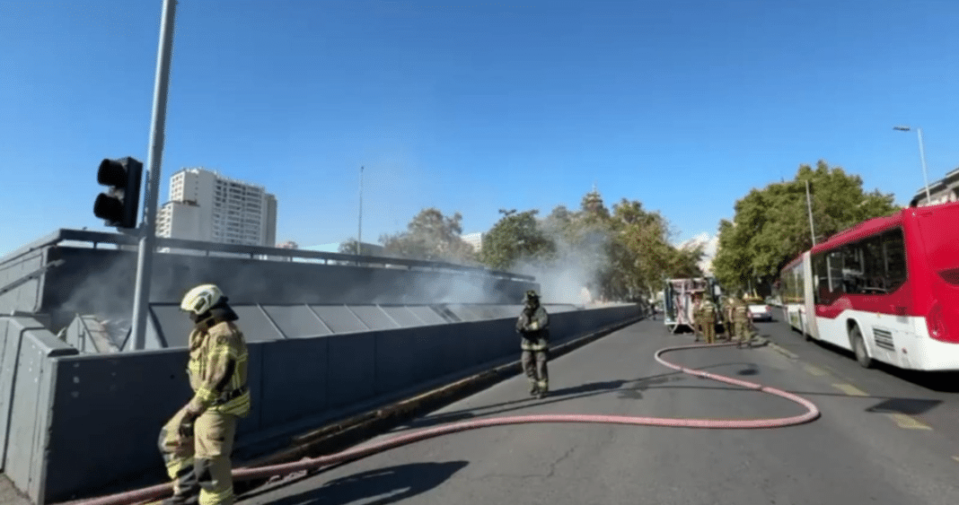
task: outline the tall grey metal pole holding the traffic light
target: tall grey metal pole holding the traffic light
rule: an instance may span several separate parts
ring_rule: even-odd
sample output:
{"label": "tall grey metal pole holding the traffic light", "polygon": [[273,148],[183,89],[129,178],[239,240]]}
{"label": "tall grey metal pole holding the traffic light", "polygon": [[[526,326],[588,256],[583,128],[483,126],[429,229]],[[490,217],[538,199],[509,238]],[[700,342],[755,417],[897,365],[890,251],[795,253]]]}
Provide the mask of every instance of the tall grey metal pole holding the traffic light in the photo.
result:
{"label": "tall grey metal pole holding the traffic light", "polygon": [[163,159],[163,132],[167,119],[167,90],[170,84],[170,58],[174,41],[176,0],[163,0],[160,18],[160,47],[156,55],[156,83],[153,88],[153,117],[150,130],[150,153],[146,209],[140,227],[140,250],[136,264],[136,288],[133,297],[133,349],[141,350],[147,341],[147,310],[150,303],[150,282],[153,272],[153,248],[156,237],[156,200],[160,188],[160,164]]}

